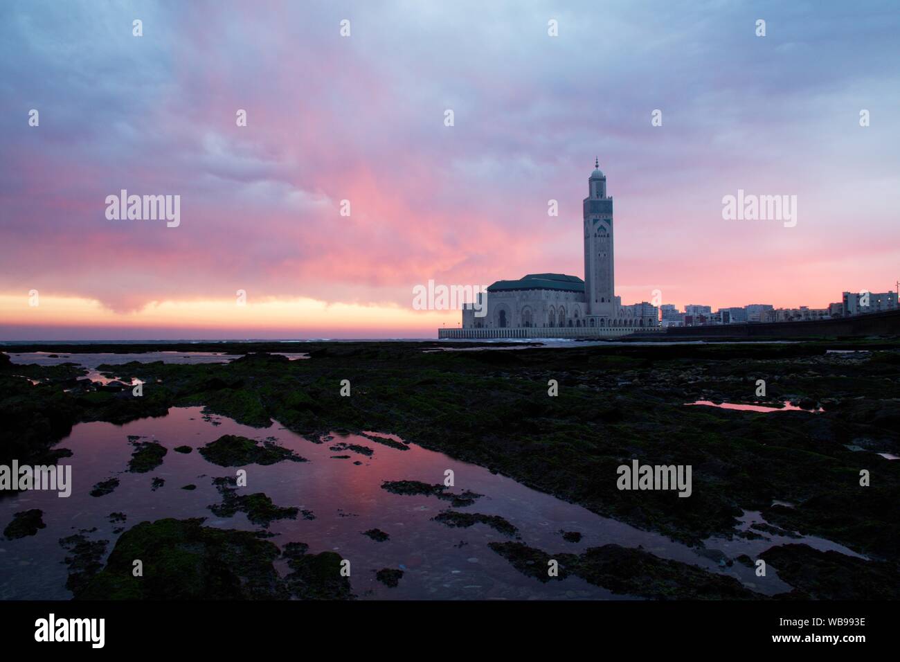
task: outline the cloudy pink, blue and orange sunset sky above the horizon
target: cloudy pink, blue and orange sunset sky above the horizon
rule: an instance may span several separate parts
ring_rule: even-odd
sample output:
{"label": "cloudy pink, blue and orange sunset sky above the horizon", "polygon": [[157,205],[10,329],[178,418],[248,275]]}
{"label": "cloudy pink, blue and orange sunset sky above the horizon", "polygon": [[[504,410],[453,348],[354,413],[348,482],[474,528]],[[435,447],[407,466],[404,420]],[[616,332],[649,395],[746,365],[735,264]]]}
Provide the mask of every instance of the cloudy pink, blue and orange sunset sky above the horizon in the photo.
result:
{"label": "cloudy pink, blue and orange sunset sky above the horizon", "polygon": [[[624,304],[895,289],[898,33],[866,0],[4,0],[0,340],[434,338],[429,279],[584,276],[595,156]],[[180,225],[107,220],[121,189]],[[723,220],[738,189],[797,226]]]}

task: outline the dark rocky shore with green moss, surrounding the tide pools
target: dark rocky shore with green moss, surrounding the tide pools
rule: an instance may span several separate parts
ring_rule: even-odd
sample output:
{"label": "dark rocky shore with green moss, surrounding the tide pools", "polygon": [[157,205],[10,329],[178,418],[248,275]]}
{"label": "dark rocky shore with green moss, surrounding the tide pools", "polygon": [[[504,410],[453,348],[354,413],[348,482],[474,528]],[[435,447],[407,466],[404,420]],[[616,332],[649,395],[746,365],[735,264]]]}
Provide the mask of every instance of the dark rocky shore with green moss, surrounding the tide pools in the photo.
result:
{"label": "dark rocky shore with green moss, surrounding the tide pools", "polygon": [[[898,344],[434,351],[459,346],[322,342],[304,343],[310,358],[299,360],[266,353],[284,351],[284,345],[277,345],[215,343],[214,351],[239,354],[225,364],[157,361],[102,366],[105,376],[119,382],[109,385],[86,379],[86,371],[74,363],[15,365],[0,354],[4,420],[0,464],[13,458],[20,463],[53,463],[67,452],[56,447],[58,440],[77,422],[128,422],[163,416],[172,406],[201,405],[210,413],[260,429],[275,419],[311,440],[336,430],[392,432],[406,442],[488,467],[594,512],[691,545],[701,546],[712,536],[768,535],[738,531],[742,512],[752,511],[761,512],[775,530],[833,540],[869,559],[845,563],[849,557],[835,558],[828,555],[836,553],[825,555],[805,545],[770,549],[763,558],[778,558],[794,568],[789,572],[795,578],[794,597],[896,598],[900,593],[896,507],[900,460],[884,457],[900,455]],[[464,347],[473,349],[471,344]],[[75,361],[79,349],[104,350],[96,345],[67,345],[61,350]],[[128,345],[127,351],[139,349]],[[132,378],[143,382],[139,397],[126,385]],[[349,396],[341,394],[342,380],[349,380]],[[558,384],[558,395],[548,394],[551,380]],[[758,394],[760,380],[765,394]],[[801,409],[759,413],[687,406],[698,401],[772,407],[787,402]],[[164,454],[147,442],[133,445],[132,471],[154,466]],[[224,467],[239,466],[242,457],[272,450],[242,439],[223,439],[201,452],[214,455],[213,461]],[[690,465],[692,494],[679,498],[672,492],[618,490],[617,467],[633,459],[651,465]],[[862,471],[868,472],[869,485],[860,485]],[[425,487],[442,498],[440,486]],[[223,495],[223,503],[230,507],[260,505],[231,503],[229,495]],[[445,523],[465,525],[463,518],[453,517],[456,520]],[[119,544],[139,526],[126,531]],[[196,537],[198,544],[220,544],[213,540],[218,534],[204,532],[207,528],[200,523],[163,528],[175,526],[187,527],[179,535]],[[126,541],[136,545],[140,540],[150,538],[130,536]],[[258,547],[249,539],[240,545]],[[517,559],[523,555],[545,554],[520,543],[496,551],[514,564],[521,563]],[[644,557],[625,562],[629,554],[611,547],[589,552],[572,556],[563,569],[589,581],[602,577],[626,591],[627,577],[617,583],[610,576],[617,567],[640,561],[645,570],[654,568],[664,586],[637,594],[748,596],[711,580],[708,594],[697,588],[682,590],[682,583],[672,580],[671,565],[648,565]],[[277,553],[268,550],[266,558]],[[299,555],[292,563],[302,581],[316,576],[318,561]],[[264,587],[258,589],[263,594],[292,593],[284,586],[268,586],[274,580],[266,568],[260,569],[260,577],[257,585]],[[295,580],[294,584],[300,577]],[[97,595],[98,586],[104,585],[131,594],[128,586],[111,581],[89,584],[81,594]],[[829,582],[838,582],[840,591],[828,589]],[[331,588],[336,594],[348,594],[346,587]],[[256,594],[253,588],[247,596]]]}

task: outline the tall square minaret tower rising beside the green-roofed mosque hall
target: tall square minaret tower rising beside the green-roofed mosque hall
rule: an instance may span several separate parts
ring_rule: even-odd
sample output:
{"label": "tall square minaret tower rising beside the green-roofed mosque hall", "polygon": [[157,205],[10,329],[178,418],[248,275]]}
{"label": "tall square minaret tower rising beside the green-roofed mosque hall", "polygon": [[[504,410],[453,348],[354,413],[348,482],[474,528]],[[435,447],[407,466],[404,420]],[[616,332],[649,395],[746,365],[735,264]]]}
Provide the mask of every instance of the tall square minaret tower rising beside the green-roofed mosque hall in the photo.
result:
{"label": "tall square minaret tower rising beside the green-roofed mosque hall", "polygon": [[588,314],[616,315],[616,283],[613,268],[613,199],[607,196],[607,176],[599,159],[588,179],[584,199],[584,290]]}

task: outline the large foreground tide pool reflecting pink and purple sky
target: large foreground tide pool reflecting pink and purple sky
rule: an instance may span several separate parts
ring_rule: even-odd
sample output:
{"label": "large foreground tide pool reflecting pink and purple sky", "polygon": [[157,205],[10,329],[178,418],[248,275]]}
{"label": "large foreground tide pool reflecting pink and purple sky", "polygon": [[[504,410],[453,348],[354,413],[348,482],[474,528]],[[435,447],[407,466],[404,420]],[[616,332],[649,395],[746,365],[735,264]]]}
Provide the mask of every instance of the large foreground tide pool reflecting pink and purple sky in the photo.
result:
{"label": "large foreground tide pool reflecting pink and purple sky", "polygon": [[[212,478],[235,476],[236,468],[212,465],[196,449],[223,434],[257,440],[275,438],[280,445],[310,460],[242,467],[247,470],[247,487],[239,488],[238,494],[264,492],[278,506],[311,511],[315,519],[273,521],[269,531],[275,537],[269,540],[279,547],[301,541],[310,545],[312,553],[331,549],[350,559],[351,584],[361,598],[627,597],[614,596],[576,576],[547,584],[524,576],[487,546],[494,540],[512,540],[508,536],[481,523],[469,528],[449,528],[432,518],[451,508],[450,503],[434,496],[392,494],[382,488],[384,481],[398,480],[443,484],[446,469],[453,469],[455,474],[453,492],[469,490],[482,494],[473,505],[455,510],[500,515],[518,528],[520,540],[551,554],[581,552],[611,542],[627,547],[641,545],[659,557],[735,576],[761,593],[775,594],[788,588],[775,572],[770,572],[765,585],[758,585],[759,579],[753,575],[752,568],[739,563],[722,567],[708,550],[689,548],[662,535],[600,517],[511,478],[491,474],[485,468],[415,444],[401,450],[354,434],[333,434],[331,439],[314,443],[277,423],[268,429],[251,428],[227,418],[207,416],[200,407],[186,407],[170,409],[162,418],[141,419],[121,426],[106,422],[80,423],[59,444],[73,451],[71,458],[62,460],[72,465],[73,489],[69,498],[58,498],[55,492],[27,492],[0,500],[0,525],[12,521],[14,512],[32,508],[43,511],[47,525],[35,536],[0,540],[0,598],[70,597],[65,588],[67,567],[62,562],[66,552],[58,540],[78,531],[90,531],[87,534],[90,540],[109,540],[108,555],[120,535],[113,530],[128,529],[140,521],[205,517],[208,526],[257,530],[243,512],[217,517],[208,508],[221,501]],[[165,446],[168,452],[163,464],[148,473],[125,472],[134,450],[129,435],[156,440]],[[392,435],[385,438],[397,440]],[[331,449],[338,444],[339,451]],[[175,452],[176,446],[190,446],[194,450],[184,454]],[[364,449],[353,449],[354,446],[373,452],[368,455]],[[94,484],[111,477],[120,481],[112,494],[99,497],[89,494]],[[154,478],[164,479],[165,485],[154,491]],[[196,489],[183,490],[184,485],[196,485]],[[123,524],[111,522],[113,512],[124,512],[127,520]],[[377,542],[363,535],[371,529],[387,532],[390,539]],[[580,531],[581,541],[563,540],[561,530]],[[837,549],[851,554],[824,540],[780,540],[778,536],[772,536],[771,541],[711,540],[707,548],[724,549],[730,558],[742,553],[755,558],[772,544],[799,540],[817,549]],[[278,562],[278,567],[285,571],[282,562]],[[398,587],[388,588],[375,580],[375,571],[385,567],[404,571]]]}

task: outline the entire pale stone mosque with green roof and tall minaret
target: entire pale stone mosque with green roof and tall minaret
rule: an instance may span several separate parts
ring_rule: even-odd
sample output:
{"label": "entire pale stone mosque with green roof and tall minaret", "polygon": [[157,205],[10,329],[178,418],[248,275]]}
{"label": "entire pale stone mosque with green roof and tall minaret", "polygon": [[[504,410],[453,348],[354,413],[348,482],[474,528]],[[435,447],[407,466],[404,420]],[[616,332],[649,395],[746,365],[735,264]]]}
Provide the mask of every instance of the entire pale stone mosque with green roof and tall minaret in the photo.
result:
{"label": "entire pale stone mosque with green roof and tall minaret", "polygon": [[584,280],[564,274],[498,280],[479,295],[487,298],[478,306],[464,306],[461,328],[439,329],[437,337],[597,338],[659,331],[656,306],[622,305],[613,256],[613,198],[595,160],[584,199]]}

